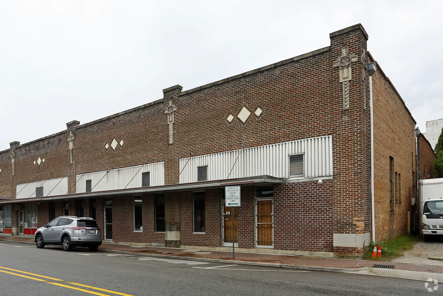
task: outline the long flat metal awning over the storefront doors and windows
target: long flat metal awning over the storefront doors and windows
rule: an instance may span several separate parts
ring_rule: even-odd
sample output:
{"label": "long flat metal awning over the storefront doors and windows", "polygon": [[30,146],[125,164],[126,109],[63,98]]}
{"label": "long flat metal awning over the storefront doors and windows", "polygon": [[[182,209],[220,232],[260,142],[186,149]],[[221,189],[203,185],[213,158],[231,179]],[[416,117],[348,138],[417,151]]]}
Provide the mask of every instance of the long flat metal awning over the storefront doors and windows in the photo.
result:
{"label": "long flat metal awning over the storefront doors and windows", "polygon": [[44,196],[44,197],[9,199],[9,200],[0,200],[0,204],[46,201],[46,200],[57,200],[57,199],[95,198],[95,197],[110,196],[110,195],[141,194],[147,192],[163,193],[163,192],[184,191],[184,190],[194,190],[194,189],[217,188],[227,185],[279,184],[284,182],[285,180],[283,178],[276,178],[268,175],[263,175],[263,176],[225,179],[217,181],[203,181],[203,182],[185,183],[185,184],[171,184],[171,185],[139,187],[131,189],[118,189],[118,190],[54,195],[46,197]]}

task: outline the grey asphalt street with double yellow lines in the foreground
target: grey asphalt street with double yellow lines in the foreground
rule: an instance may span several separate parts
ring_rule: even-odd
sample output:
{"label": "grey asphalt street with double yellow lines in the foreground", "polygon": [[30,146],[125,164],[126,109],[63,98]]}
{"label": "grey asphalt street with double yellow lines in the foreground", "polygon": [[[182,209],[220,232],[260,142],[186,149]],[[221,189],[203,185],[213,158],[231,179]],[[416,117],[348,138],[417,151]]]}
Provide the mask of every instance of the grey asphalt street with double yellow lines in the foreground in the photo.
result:
{"label": "grey asphalt street with double yellow lines in the foreground", "polygon": [[[0,243],[3,295],[421,295],[436,285],[371,275],[301,271]],[[438,287],[437,290],[438,292]],[[443,291],[443,289],[442,289]]]}

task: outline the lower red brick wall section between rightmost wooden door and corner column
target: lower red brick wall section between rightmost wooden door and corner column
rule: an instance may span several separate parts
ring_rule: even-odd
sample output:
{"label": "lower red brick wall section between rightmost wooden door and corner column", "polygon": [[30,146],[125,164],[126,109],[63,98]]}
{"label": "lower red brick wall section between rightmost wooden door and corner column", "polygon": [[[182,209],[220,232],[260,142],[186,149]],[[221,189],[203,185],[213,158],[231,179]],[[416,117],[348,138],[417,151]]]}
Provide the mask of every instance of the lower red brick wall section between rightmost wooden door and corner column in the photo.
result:
{"label": "lower red brick wall section between rightmost wooden door and corner column", "polygon": [[274,248],[333,251],[333,182],[274,186]]}

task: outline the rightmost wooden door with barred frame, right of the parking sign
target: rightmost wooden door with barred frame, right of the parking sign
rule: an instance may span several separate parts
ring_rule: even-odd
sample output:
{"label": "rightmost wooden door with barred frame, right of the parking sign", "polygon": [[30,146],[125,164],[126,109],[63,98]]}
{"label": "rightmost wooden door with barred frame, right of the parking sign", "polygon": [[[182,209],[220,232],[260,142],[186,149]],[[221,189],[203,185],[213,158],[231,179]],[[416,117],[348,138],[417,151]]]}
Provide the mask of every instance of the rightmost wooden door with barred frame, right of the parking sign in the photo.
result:
{"label": "rightmost wooden door with barred frame, right of the parking sign", "polygon": [[273,246],[272,200],[257,200],[257,246]]}

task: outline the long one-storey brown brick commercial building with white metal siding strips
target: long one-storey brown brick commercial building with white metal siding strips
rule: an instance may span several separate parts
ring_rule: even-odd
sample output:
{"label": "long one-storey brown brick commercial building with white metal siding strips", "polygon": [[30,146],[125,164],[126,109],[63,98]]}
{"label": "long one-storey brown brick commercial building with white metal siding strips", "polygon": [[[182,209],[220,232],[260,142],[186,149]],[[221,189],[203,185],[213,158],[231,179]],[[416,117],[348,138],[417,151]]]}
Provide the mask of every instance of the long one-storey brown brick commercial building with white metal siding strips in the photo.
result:
{"label": "long one-storey brown brick commercial building with white metal siding strips", "polygon": [[[113,242],[223,248],[232,246],[234,225],[238,248],[330,256],[406,233],[415,121],[367,51],[360,24],[330,39],[12,142],[0,152],[3,233],[32,235],[64,214],[96,218]],[[240,207],[225,206],[225,186],[240,186]]]}

